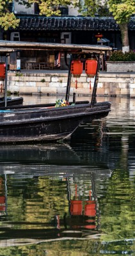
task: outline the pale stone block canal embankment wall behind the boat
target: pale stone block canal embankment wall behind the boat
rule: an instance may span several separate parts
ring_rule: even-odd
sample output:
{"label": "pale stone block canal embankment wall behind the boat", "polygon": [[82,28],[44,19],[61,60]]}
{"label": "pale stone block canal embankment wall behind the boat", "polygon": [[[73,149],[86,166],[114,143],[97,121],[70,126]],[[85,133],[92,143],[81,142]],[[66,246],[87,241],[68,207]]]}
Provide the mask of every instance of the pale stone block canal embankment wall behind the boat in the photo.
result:
{"label": "pale stone block canal embankment wall behind the boat", "polygon": [[[65,94],[67,87],[67,72],[58,73],[8,73],[8,90],[19,94]],[[72,77],[70,93],[77,95],[91,95],[93,78],[82,74],[77,78]],[[91,86],[90,86],[91,83]],[[90,89],[91,87],[91,89]],[[129,96],[135,97],[135,73],[100,72],[97,95]]]}

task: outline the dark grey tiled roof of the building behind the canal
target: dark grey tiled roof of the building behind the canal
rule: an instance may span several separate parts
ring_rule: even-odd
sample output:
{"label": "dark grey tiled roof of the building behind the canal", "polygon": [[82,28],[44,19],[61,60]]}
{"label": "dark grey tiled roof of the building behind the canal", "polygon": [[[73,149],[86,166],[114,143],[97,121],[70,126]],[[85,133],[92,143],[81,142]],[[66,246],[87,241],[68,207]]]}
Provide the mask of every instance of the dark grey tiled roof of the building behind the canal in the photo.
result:
{"label": "dark grey tiled roof of the building behind the canal", "polygon": [[[120,30],[112,17],[44,17],[39,15],[19,16],[20,30]],[[129,30],[135,30],[135,18],[129,22]]]}

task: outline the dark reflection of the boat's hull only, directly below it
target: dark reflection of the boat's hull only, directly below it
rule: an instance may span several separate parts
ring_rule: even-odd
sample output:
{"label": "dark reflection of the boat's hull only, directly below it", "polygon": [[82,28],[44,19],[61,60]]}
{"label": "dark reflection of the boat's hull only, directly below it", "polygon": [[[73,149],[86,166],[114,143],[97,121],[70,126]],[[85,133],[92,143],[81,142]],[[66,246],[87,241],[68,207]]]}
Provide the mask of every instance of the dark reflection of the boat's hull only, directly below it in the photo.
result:
{"label": "dark reflection of the boat's hull only, directly below it", "polygon": [[[9,163],[9,164],[8,164]],[[99,168],[100,164],[100,168]],[[75,152],[68,144],[45,145],[8,145],[0,148],[0,172],[26,173],[31,175],[58,175],[94,172],[110,175],[108,156],[106,159],[88,152],[83,159],[80,152]]]}

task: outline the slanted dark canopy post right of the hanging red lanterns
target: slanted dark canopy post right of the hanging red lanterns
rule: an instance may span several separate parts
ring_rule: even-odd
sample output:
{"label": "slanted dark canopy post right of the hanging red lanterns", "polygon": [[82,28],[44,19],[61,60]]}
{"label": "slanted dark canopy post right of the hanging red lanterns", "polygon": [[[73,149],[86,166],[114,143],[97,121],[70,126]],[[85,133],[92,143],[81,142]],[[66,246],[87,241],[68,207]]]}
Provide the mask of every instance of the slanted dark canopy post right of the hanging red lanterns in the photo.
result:
{"label": "slanted dark canopy post right of the hanging red lanterns", "polygon": [[100,72],[101,61],[102,61],[102,54],[99,54],[99,60],[98,60],[98,63],[97,63],[97,72],[96,72],[96,75],[95,75],[93,93],[92,93],[92,97],[91,97],[91,108],[96,103],[97,84],[98,84],[98,81],[99,81],[99,72]]}

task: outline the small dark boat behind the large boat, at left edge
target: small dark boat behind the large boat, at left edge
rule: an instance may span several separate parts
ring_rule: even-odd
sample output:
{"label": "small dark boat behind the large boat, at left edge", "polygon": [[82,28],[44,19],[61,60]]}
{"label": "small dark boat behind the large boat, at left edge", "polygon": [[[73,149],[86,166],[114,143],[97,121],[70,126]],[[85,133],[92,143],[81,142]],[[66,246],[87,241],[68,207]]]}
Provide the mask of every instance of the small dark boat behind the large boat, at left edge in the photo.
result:
{"label": "small dark boat behind the large boat, at left edge", "polygon": [[[15,106],[15,105],[22,105],[23,104],[23,98],[18,97],[13,99],[12,97],[7,97],[7,106]],[[0,108],[4,107],[5,100],[4,97],[0,97]]]}

